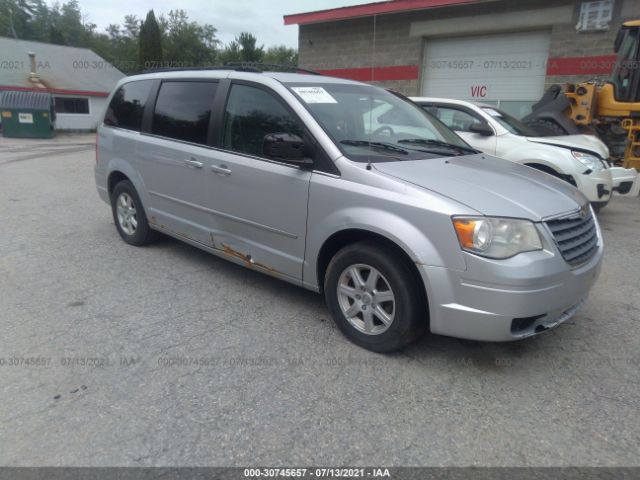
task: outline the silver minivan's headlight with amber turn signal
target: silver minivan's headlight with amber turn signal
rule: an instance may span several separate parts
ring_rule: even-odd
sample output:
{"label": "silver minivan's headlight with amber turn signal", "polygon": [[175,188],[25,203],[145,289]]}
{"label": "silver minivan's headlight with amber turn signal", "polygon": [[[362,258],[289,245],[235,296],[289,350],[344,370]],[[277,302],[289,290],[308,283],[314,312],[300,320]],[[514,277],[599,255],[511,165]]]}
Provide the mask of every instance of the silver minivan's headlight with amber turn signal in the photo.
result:
{"label": "silver minivan's headlight with amber turn signal", "polygon": [[513,218],[453,217],[460,247],[488,258],[509,258],[542,250],[533,222]]}

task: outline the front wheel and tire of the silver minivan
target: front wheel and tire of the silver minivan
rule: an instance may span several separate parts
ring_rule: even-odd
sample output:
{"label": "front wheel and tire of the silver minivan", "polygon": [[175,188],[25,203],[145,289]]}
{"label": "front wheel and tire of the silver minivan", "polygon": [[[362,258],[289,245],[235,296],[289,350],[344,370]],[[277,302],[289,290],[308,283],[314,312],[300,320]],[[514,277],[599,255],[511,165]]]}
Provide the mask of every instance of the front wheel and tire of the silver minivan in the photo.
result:
{"label": "front wheel and tire of the silver minivan", "polygon": [[[377,274],[375,285],[367,283],[372,274]],[[354,243],[336,253],[324,292],[338,328],[367,350],[399,350],[427,328],[426,298],[408,262],[375,242]]]}

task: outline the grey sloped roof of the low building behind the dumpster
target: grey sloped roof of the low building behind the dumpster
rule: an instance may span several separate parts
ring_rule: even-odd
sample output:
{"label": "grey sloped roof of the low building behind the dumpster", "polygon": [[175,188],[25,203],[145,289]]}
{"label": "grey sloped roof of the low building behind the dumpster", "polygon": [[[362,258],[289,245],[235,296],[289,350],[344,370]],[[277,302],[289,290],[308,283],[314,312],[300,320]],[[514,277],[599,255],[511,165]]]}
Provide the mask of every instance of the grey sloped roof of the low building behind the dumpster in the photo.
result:
{"label": "grey sloped roof of the low building behind the dumpster", "polygon": [[[29,53],[35,54],[31,79]],[[88,48],[0,37],[0,89],[44,90],[69,95],[106,96],[125,75]]]}

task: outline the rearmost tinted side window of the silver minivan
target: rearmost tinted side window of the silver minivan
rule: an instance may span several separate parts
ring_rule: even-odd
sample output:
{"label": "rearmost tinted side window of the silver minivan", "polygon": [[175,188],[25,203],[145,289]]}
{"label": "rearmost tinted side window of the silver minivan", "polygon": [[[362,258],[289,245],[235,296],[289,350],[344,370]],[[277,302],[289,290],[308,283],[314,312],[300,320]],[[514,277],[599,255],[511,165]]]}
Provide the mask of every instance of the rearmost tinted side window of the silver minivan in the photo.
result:
{"label": "rearmost tinted side window of the silver minivan", "polygon": [[140,80],[120,87],[107,108],[104,124],[139,132],[151,85],[150,80]]}

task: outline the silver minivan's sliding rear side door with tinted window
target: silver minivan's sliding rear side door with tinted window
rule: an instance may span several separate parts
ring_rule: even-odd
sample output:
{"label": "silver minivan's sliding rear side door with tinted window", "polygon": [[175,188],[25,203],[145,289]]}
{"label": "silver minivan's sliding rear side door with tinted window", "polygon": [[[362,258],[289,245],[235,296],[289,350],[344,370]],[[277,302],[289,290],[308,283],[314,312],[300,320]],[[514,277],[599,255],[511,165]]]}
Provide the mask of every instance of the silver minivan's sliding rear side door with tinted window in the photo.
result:
{"label": "silver minivan's sliding rear side door with tinted window", "polygon": [[162,81],[138,150],[138,168],[151,200],[150,223],[208,246],[207,176],[217,89],[217,81]]}

